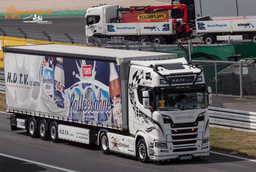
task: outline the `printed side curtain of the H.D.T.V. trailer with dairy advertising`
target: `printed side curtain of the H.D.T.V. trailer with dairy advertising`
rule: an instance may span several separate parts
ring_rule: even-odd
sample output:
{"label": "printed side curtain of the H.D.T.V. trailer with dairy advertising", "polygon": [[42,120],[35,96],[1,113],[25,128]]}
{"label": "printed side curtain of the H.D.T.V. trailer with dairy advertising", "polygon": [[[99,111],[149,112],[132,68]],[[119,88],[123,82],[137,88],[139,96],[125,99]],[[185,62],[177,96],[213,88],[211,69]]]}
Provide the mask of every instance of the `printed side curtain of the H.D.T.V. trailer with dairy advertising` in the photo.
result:
{"label": "printed side curtain of the H.D.T.V. trailer with dairy advertising", "polygon": [[5,71],[7,108],[33,109],[74,122],[107,123],[122,130],[116,63],[14,53],[5,58],[10,69]]}

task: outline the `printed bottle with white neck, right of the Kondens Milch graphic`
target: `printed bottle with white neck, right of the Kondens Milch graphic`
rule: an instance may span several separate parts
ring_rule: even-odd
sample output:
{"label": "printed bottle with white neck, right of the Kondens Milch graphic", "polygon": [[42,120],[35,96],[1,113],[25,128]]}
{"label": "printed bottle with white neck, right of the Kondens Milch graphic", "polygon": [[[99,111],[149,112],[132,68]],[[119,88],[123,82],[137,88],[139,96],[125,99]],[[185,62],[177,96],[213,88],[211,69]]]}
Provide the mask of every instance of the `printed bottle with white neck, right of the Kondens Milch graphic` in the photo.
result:
{"label": "printed bottle with white neck, right of the Kondens Milch graphic", "polygon": [[57,64],[54,69],[54,101],[55,105],[58,108],[64,107],[64,88],[65,88],[65,79],[64,79],[64,70],[63,70],[63,59],[57,57]]}

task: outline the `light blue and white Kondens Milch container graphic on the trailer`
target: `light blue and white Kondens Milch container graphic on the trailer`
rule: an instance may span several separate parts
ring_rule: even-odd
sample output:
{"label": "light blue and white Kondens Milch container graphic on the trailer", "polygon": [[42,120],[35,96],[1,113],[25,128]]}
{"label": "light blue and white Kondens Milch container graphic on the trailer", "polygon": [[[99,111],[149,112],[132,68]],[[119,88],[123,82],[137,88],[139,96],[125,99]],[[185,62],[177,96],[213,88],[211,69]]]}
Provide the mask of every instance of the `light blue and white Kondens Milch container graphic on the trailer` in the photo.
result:
{"label": "light blue and white Kondens Milch container graphic on the trailer", "polygon": [[53,66],[52,57],[44,57],[41,70],[42,86],[44,92],[52,101],[54,101],[54,78],[52,72]]}

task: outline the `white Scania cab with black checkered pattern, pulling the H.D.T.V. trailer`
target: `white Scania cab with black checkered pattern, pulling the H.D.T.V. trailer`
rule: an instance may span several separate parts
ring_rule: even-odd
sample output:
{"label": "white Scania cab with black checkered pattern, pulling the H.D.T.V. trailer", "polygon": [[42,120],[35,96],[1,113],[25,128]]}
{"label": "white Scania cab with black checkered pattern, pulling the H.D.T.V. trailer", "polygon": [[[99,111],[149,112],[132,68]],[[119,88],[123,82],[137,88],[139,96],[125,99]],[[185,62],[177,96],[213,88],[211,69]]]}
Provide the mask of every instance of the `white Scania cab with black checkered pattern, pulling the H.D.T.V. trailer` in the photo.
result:
{"label": "white Scania cab with black checkered pattern, pulling the H.D.T.V. trailer", "polygon": [[150,160],[208,157],[211,90],[202,69],[184,58],[130,63],[129,130],[144,137]]}

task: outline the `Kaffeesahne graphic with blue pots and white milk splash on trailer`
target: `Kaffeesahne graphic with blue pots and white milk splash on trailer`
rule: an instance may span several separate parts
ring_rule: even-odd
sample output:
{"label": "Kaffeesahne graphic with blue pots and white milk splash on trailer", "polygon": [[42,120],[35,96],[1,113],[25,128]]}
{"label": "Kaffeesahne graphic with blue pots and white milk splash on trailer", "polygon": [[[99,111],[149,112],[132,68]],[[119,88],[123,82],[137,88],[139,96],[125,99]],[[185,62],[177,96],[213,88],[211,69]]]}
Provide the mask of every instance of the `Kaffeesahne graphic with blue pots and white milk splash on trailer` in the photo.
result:
{"label": "Kaffeesahne graphic with blue pots and white milk splash on trailer", "polygon": [[73,71],[73,76],[80,81],[65,90],[70,104],[69,116],[72,117],[73,121],[84,119],[85,122],[104,121],[111,123],[111,118],[109,117],[111,103],[108,92],[105,91],[109,90],[109,87],[95,80],[96,64],[97,62],[94,61],[92,71],[89,72],[91,76],[84,76],[82,66],[90,65],[86,65],[84,60],[76,61],[79,73],[76,74]]}

